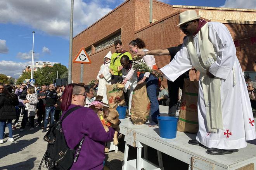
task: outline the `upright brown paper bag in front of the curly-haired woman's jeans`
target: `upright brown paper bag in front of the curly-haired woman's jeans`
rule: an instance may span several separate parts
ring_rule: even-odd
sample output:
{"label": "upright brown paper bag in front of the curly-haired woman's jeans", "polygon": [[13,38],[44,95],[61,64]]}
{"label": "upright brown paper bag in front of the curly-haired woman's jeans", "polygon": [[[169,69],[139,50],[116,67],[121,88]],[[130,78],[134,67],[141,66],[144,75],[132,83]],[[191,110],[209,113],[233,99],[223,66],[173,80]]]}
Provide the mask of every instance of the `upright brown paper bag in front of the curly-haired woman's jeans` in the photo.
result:
{"label": "upright brown paper bag in front of the curly-haired woman's jeans", "polygon": [[149,118],[150,101],[147,96],[146,82],[137,84],[131,99],[131,120],[134,124],[144,124]]}

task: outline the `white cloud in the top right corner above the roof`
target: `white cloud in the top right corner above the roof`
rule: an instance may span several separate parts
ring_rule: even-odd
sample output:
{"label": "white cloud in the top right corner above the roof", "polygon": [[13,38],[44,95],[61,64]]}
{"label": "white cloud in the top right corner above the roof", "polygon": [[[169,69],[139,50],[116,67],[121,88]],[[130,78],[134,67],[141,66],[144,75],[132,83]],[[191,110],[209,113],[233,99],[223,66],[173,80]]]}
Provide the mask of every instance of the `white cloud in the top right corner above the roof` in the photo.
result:
{"label": "white cloud in the top right corner above the roof", "polygon": [[221,7],[256,9],[256,0],[226,0],[225,4]]}

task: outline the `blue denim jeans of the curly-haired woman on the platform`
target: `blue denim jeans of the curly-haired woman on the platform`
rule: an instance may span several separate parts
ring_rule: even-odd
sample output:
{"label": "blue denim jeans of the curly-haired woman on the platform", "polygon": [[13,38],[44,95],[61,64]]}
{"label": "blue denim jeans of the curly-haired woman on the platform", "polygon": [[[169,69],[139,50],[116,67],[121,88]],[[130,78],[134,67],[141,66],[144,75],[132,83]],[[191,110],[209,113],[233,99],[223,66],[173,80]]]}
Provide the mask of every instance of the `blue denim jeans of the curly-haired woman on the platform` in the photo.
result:
{"label": "blue denim jeans of the curly-haired woman on the platform", "polygon": [[[143,78],[144,74],[140,74],[138,81]],[[150,100],[150,116],[153,122],[157,124],[157,115],[159,115],[159,104],[157,100],[158,78],[150,74],[147,82],[147,96]]]}

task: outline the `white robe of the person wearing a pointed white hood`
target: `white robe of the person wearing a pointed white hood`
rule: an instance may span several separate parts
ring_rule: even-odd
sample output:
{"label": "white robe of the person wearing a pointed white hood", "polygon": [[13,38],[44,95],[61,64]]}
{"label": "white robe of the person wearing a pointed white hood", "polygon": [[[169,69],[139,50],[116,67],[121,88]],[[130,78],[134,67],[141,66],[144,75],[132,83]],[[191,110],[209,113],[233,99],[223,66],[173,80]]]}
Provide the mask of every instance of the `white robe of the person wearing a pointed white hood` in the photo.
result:
{"label": "white robe of the person wearing a pointed white hood", "polygon": [[[100,66],[100,71],[99,74],[97,76],[97,79],[99,79],[99,86],[98,86],[98,92],[97,95],[98,96],[103,96],[102,102],[107,103],[107,87],[106,84],[111,84],[111,74],[109,72],[109,65],[110,62],[107,64],[102,64]],[[100,79],[100,74],[103,74],[104,78]]]}

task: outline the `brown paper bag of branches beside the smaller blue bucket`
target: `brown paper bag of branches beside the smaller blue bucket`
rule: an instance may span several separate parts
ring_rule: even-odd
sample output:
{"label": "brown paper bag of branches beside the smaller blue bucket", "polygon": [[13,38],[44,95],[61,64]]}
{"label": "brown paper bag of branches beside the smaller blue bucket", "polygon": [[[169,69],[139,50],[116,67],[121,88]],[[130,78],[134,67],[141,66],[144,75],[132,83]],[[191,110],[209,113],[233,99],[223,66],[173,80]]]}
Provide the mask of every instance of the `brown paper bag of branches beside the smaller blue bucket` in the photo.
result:
{"label": "brown paper bag of branches beside the smaller blue bucket", "polygon": [[[106,84],[107,87],[107,101],[109,102],[109,108],[117,108],[117,106],[125,106],[125,96],[123,90],[114,91],[113,88],[116,84]],[[120,98],[121,103],[115,103],[115,99]]]}

